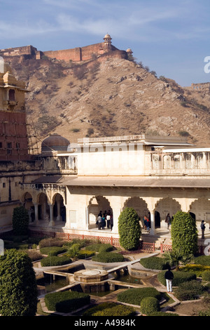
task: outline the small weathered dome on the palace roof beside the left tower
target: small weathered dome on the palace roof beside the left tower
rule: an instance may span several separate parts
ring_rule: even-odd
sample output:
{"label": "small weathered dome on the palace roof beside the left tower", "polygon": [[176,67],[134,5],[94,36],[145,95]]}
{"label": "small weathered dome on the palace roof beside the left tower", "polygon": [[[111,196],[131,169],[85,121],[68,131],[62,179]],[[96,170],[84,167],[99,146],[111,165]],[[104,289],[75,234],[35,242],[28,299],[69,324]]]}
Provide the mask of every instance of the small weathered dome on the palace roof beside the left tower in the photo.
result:
{"label": "small weathered dome on the palace roof beside the left tower", "polygon": [[41,143],[41,152],[67,151],[70,142],[66,138],[54,133]]}

